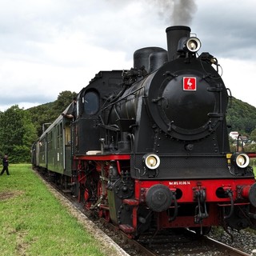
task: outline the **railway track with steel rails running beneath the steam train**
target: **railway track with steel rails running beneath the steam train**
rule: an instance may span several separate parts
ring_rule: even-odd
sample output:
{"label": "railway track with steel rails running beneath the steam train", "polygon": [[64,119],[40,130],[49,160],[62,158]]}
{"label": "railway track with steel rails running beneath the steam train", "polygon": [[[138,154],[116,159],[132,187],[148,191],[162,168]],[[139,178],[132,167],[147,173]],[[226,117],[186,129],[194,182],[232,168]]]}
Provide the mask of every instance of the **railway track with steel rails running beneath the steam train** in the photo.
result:
{"label": "railway track with steel rails running beneath the steam train", "polygon": [[[59,190],[52,182],[48,182],[48,178],[41,175],[40,172],[35,170],[41,178],[48,184],[53,190],[58,191],[58,197],[65,198],[74,206],[80,214],[85,214],[86,211],[82,209],[82,206],[74,200],[74,198]],[[95,221],[95,220],[94,220]],[[230,256],[250,256],[241,250],[228,246],[222,242],[218,242],[213,238],[202,236],[198,238],[193,232],[188,230],[160,230],[157,234],[154,232],[148,232],[133,240],[127,237],[126,234],[118,230],[116,226],[111,225],[108,222],[97,220],[94,222],[99,229],[107,234],[121,249],[120,255],[126,256],[172,256],[172,255],[230,255]],[[122,251],[123,250],[123,251]]]}

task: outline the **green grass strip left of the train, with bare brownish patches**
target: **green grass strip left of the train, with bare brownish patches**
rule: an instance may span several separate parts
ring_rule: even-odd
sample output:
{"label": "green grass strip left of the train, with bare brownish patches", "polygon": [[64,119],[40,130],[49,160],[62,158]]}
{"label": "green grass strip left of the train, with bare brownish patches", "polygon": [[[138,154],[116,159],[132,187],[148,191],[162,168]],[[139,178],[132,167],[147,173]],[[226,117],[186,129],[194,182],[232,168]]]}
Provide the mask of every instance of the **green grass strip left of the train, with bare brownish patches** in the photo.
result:
{"label": "green grass strip left of the train, with bare brownish patches", "polygon": [[29,164],[0,176],[1,255],[105,255]]}

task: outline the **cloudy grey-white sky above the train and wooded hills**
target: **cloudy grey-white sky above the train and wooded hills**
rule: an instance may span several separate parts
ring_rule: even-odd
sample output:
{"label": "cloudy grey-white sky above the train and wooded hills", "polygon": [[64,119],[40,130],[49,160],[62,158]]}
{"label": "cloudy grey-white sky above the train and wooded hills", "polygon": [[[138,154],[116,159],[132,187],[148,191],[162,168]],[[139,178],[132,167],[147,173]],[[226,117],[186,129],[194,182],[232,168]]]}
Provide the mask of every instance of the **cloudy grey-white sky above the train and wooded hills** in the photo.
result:
{"label": "cloudy grey-white sky above the train and wooded hills", "polygon": [[166,49],[174,25],[190,26],[232,95],[256,106],[256,1],[0,0],[0,110],[78,93],[99,70],[130,69],[135,50]]}

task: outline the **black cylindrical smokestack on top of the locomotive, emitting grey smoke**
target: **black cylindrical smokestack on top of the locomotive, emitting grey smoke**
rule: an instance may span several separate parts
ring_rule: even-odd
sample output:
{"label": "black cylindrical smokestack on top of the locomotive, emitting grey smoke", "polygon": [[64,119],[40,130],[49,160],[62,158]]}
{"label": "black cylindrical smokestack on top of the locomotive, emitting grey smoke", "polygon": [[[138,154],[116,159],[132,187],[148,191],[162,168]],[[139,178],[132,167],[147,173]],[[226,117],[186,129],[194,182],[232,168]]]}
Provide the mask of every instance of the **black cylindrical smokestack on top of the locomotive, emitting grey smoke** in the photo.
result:
{"label": "black cylindrical smokestack on top of the locomotive, emitting grey smoke", "polygon": [[190,38],[189,26],[169,26],[166,28],[168,61],[178,58],[178,42],[181,38]]}

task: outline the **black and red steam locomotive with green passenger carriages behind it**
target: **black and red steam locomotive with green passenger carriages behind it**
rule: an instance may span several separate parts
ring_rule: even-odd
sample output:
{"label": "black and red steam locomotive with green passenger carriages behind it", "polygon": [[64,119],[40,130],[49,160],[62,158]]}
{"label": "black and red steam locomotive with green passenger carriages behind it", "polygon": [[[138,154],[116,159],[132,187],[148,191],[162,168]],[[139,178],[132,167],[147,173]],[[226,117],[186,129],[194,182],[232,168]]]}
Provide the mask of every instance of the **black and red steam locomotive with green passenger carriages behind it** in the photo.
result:
{"label": "black and red steam locomotive with green passenger carriages behind it", "polygon": [[167,48],[134,52],[130,70],[100,71],[33,146],[32,162],[87,210],[138,237],[146,230],[256,226],[250,158],[230,152],[230,91],[188,26]]}

